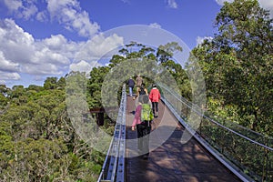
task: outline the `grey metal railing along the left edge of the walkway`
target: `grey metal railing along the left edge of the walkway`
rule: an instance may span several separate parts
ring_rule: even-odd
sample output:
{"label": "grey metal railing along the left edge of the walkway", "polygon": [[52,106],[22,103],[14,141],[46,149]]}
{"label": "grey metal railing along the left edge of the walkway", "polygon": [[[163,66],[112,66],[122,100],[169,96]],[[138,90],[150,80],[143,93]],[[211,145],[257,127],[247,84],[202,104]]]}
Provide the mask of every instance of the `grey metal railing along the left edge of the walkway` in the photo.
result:
{"label": "grey metal railing along the left edge of the walkway", "polygon": [[123,86],[114,136],[97,182],[125,181],[126,152],[126,86]]}

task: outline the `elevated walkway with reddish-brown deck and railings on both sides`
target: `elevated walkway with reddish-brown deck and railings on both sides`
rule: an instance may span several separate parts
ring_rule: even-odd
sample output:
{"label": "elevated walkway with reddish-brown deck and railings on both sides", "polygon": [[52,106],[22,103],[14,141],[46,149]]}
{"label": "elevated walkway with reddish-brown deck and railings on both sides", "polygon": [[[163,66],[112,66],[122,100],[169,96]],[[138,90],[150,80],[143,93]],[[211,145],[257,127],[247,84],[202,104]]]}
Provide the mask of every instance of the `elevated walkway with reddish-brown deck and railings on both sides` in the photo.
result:
{"label": "elevated walkway with reddish-brown deck and railings on both sides", "polygon": [[[161,88],[164,103],[159,103],[145,160],[137,152],[136,131],[131,130],[138,103],[126,96],[124,86],[98,182],[272,181],[271,137],[219,117],[215,120],[171,89]],[[196,118],[200,123],[195,131]]]}

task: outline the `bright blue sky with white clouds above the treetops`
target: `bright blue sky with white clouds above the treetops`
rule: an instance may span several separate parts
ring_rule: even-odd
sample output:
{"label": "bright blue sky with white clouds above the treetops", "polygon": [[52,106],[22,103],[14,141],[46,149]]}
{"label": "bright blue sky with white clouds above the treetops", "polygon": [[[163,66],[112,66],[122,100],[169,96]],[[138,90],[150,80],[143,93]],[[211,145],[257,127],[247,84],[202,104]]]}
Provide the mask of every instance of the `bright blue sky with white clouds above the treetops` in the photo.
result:
{"label": "bright blue sky with white clouds above the treetops", "polygon": [[[47,76],[88,72],[126,44],[123,34],[105,33],[127,25],[163,29],[192,49],[215,33],[224,1],[0,0],[0,84],[43,85]],[[272,17],[273,1],[259,3]]]}

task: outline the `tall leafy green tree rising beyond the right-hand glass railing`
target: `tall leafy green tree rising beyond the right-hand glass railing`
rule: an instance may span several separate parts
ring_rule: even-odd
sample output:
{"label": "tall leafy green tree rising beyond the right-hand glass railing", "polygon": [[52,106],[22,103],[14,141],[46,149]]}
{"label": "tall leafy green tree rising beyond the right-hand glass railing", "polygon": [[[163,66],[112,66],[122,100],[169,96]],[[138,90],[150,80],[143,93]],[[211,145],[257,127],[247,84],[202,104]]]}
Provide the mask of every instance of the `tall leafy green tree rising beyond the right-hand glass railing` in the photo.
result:
{"label": "tall leafy green tree rising beyond the right-hand glass railing", "polygon": [[272,22],[256,0],[226,3],[216,18],[217,34],[192,51],[207,95],[225,108],[221,115],[227,116],[226,107],[235,107],[234,120],[268,135],[273,131]]}

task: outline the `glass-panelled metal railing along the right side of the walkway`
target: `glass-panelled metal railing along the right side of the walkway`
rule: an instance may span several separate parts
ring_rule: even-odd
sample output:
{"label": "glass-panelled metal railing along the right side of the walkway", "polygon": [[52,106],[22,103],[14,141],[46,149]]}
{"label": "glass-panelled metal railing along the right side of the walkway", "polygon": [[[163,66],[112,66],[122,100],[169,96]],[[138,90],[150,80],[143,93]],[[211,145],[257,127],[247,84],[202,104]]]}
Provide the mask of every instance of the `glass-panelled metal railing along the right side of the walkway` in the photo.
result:
{"label": "glass-panelled metal railing along the right side of the walkway", "polygon": [[[219,117],[215,119],[211,114],[200,112],[200,107],[167,86],[159,86],[163,101],[178,121],[234,174],[243,181],[273,180],[272,138],[234,122]],[[197,128],[188,122],[191,115],[200,119]]]}

